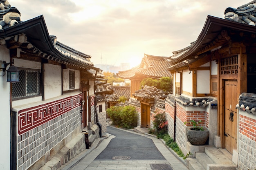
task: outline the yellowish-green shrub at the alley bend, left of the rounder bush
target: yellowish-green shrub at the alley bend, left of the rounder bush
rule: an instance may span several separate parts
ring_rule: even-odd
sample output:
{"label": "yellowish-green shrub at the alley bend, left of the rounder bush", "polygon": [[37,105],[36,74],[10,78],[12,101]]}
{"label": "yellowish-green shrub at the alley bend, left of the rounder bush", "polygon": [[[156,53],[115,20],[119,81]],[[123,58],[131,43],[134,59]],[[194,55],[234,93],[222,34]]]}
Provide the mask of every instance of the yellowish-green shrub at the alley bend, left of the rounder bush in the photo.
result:
{"label": "yellowish-green shrub at the alley bend, left of the rounder bush", "polygon": [[122,119],[121,119],[122,109],[123,109],[123,107],[121,107],[121,106],[112,106],[106,110],[108,116],[112,120],[112,125],[120,126],[122,124]]}

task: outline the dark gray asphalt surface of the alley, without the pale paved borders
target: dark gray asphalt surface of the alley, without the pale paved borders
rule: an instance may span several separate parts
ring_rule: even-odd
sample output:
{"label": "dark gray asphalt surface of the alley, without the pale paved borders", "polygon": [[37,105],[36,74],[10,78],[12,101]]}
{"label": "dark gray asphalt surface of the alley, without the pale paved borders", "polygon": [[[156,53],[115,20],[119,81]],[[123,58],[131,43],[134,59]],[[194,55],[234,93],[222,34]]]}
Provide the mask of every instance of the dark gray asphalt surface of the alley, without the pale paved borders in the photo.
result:
{"label": "dark gray asphalt surface of the alley, without the pale paved borders", "polygon": [[128,156],[129,160],[166,160],[146,135],[137,135],[111,126],[107,127],[107,132],[115,138],[95,160],[112,160],[118,156]]}

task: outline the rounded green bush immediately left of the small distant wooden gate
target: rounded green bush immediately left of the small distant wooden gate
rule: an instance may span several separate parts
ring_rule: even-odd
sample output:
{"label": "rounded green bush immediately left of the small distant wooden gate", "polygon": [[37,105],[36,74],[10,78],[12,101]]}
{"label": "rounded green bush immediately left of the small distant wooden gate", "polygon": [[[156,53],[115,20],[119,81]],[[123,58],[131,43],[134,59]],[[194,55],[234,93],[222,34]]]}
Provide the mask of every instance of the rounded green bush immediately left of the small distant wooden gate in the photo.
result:
{"label": "rounded green bush immediately left of the small distant wooden gate", "polygon": [[124,128],[137,127],[138,114],[136,108],[133,106],[125,106],[121,111],[121,120]]}

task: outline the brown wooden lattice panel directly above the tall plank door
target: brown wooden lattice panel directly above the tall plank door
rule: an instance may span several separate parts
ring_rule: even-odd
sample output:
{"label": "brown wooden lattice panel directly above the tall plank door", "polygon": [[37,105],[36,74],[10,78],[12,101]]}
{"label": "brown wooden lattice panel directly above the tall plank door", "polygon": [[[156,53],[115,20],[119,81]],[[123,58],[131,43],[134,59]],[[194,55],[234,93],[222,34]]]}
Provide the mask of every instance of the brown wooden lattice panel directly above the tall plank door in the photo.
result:
{"label": "brown wooden lattice panel directly above the tall plank door", "polygon": [[238,56],[222,59],[220,74],[238,74]]}

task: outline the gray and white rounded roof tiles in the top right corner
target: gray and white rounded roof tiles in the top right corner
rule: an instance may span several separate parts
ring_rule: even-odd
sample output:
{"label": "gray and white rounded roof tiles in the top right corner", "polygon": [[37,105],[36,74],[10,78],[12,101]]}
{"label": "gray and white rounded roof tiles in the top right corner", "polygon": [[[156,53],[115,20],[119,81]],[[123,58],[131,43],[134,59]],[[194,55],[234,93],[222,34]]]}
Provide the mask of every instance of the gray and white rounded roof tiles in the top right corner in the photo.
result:
{"label": "gray and white rounded roof tiles in the top right corner", "polygon": [[231,20],[243,24],[255,26],[256,23],[256,0],[236,8],[227,8],[225,10],[225,20]]}

